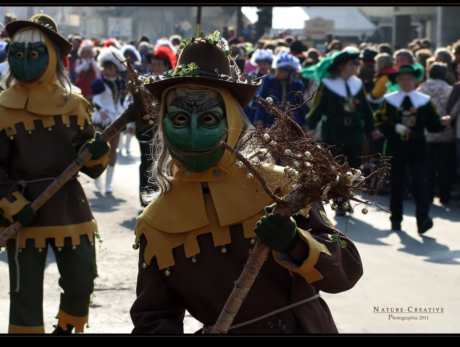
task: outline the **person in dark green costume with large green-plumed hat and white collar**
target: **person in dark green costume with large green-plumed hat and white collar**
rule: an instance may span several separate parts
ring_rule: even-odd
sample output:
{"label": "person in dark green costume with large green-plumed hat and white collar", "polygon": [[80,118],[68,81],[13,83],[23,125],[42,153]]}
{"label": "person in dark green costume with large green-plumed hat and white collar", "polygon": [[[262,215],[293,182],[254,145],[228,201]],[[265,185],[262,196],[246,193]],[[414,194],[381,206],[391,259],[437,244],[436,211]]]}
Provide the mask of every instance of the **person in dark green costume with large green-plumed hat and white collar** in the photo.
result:
{"label": "person in dark green costume with large green-plumed hat and white collar", "polygon": [[[318,93],[305,115],[307,135],[315,137],[320,123],[322,141],[330,146],[334,156],[342,155],[354,168],[363,164],[365,138],[377,140],[381,136],[363,82],[356,76],[359,55],[358,50],[346,47],[302,70],[304,77],[319,82]],[[336,210],[336,216],[353,210],[349,201],[340,200],[338,205],[342,208]]]}

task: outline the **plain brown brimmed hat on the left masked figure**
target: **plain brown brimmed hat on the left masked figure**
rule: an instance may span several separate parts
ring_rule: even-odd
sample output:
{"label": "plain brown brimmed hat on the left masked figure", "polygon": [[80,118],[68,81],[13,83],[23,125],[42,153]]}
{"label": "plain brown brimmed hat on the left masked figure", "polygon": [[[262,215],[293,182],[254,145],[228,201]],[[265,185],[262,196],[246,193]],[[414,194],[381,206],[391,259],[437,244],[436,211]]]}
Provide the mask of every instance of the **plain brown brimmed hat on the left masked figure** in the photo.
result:
{"label": "plain brown brimmed hat on the left masked figure", "polygon": [[43,31],[53,41],[59,52],[61,58],[65,58],[72,50],[72,43],[67,38],[59,34],[57,24],[53,18],[47,14],[35,14],[29,20],[13,20],[5,25],[5,30],[11,39],[14,34],[23,27],[35,27]]}

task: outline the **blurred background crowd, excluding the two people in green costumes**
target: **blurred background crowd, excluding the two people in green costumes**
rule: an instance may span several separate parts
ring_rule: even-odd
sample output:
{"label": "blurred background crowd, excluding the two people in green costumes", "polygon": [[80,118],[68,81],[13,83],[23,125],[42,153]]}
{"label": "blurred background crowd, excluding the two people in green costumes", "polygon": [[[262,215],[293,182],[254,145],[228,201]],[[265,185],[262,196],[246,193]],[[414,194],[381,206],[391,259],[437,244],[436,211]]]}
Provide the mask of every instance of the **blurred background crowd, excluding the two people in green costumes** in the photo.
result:
{"label": "blurred background crowd, excluding the two people in green costumes", "polygon": [[[3,18],[3,25],[15,19],[17,19],[16,15],[7,13]],[[262,16],[260,16],[261,20]],[[267,21],[267,19],[264,20]],[[262,80],[258,95],[264,98],[274,96],[275,101],[281,107],[302,104],[302,107],[296,110],[295,117],[306,131],[309,129],[305,117],[313,103],[313,100],[310,99],[320,83],[318,78],[311,76],[306,71],[311,66],[320,64],[324,58],[350,49],[359,53],[354,75],[362,80],[367,101],[373,110],[378,108],[386,93],[395,90],[392,85],[396,85],[395,76],[400,66],[411,64],[414,68],[421,69],[423,73],[417,81],[417,90],[430,95],[440,115],[450,114],[453,117],[448,134],[427,137],[432,149],[430,167],[427,169],[427,175],[430,178],[430,196],[433,200],[434,197],[440,196],[440,193],[443,194],[442,203],[445,205],[448,205],[451,199],[460,199],[460,129],[457,126],[457,119],[459,119],[457,113],[460,113],[458,102],[460,96],[460,38],[437,46],[429,36],[421,36],[405,44],[397,40],[398,44],[392,44],[384,41],[380,32],[375,30],[371,35],[363,34],[352,43],[327,33],[322,44],[311,45],[311,41],[304,39],[304,36],[290,28],[276,32],[264,30],[263,35],[260,36],[260,21],[255,24],[247,23],[244,26],[224,25],[215,29],[226,43],[227,49],[231,50],[231,59],[241,73]],[[178,52],[183,46],[182,40],[191,36],[182,35],[185,31],[184,25],[181,25],[182,28],[178,25],[175,27],[177,28],[176,33],[154,38],[147,33],[129,39],[118,36],[88,36],[84,32],[68,34],[66,37],[72,43],[73,49],[64,62],[75,90],[79,90],[92,102],[95,110],[100,110],[104,108],[104,105],[100,104],[100,96],[103,91],[100,82],[105,80],[105,85],[107,85],[107,80],[116,77],[119,83],[115,83],[116,85],[111,83],[109,87],[112,93],[116,91],[118,101],[114,102],[120,104],[117,106],[117,111],[121,111],[127,106],[122,93],[126,71],[118,65],[115,74],[107,76],[104,73],[106,69],[104,64],[111,61],[117,65],[113,59],[113,54],[115,54],[121,59],[129,57],[131,63],[141,74],[172,72],[176,67]],[[198,20],[196,29],[199,30],[199,27]],[[2,30],[0,74],[6,73],[8,69],[8,43],[8,35]],[[245,111],[255,126],[269,126],[273,122],[270,115],[258,104],[257,97],[246,107]],[[131,139],[132,137],[137,138],[142,158],[144,158],[139,168],[140,192],[149,186],[146,171],[150,164],[147,160],[147,150],[151,137],[146,129],[148,129],[148,124],[130,124],[124,129],[119,140],[113,143],[117,152],[129,154]],[[317,132],[315,137],[321,140],[320,132]],[[381,141],[373,140],[368,136],[363,143],[363,155],[380,150]],[[440,142],[443,143],[442,149],[438,148]],[[114,153],[112,157],[116,158],[116,154]],[[365,163],[362,164],[363,169],[366,169]],[[113,167],[115,160],[110,165]],[[111,192],[110,170],[107,175],[106,191]],[[446,184],[442,184],[446,181],[449,183],[447,188]],[[98,188],[102,188],[101,182],[96,181],[95,184]],[[446,189],[449,190],[448,196]],[[381,193],[386,192],[386,187],[382,187]],[[405,198],[412,198],[409,185]],[[143,204],[142,200],[141,204]]]}

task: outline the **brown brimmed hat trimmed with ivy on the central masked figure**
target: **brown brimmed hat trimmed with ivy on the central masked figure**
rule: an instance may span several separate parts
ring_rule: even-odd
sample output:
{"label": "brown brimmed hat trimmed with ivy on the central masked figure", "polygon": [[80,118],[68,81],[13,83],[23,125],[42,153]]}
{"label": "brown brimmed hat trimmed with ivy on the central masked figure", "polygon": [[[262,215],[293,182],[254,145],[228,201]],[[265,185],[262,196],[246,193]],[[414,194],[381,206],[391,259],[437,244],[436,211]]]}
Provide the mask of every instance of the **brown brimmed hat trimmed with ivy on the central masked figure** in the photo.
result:
{"label": "brown brimmed hat trimmed with ivy on the central masked figure", "polygon": [[145,88],[156,100],[161,100],[163,91],[176,83],[192,83],[201,86],[218,84],[228,88],[242,108],[248,105],[259,90],[260,80],[245,78],[228,57],[225,43],[218,32],[184,40],[174,72],[166,75],[148,75]]}

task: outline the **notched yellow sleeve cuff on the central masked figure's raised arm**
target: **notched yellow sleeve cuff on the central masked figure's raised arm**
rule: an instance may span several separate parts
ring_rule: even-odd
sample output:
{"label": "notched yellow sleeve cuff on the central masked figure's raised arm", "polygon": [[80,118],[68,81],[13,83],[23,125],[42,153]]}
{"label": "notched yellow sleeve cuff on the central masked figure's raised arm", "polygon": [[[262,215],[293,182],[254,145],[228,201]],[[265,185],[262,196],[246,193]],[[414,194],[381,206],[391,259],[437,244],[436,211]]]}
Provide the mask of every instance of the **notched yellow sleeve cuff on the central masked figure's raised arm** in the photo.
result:
{"label": "notched yellow sleeve cuff on the central masked figure's raised arm", "polygon": [[308,283],[322,279],[323,275],[314,266],[318,261],[320,253],[331,256],[331,252],[329,252],[324,244],[315,240],[309,231],[297,228],[297,233],[309,247],[308,257],[301,265],[298,265],[294,263],[291,257],[286,253],[274,250],[273,257],[275,258],[275,261],[281,266],[287,268],[289,271],[299,273],[307,280]]}

